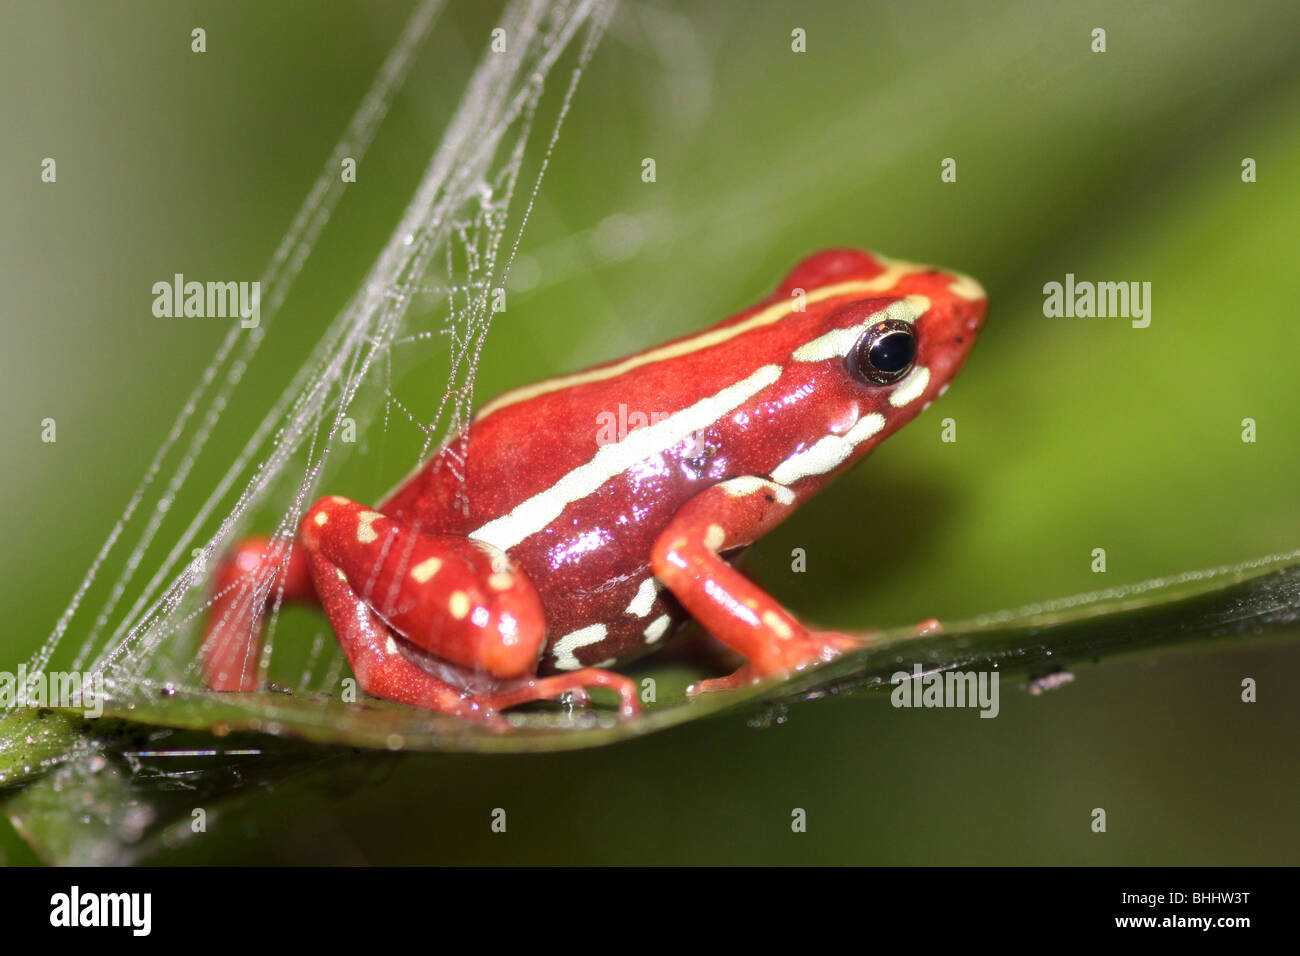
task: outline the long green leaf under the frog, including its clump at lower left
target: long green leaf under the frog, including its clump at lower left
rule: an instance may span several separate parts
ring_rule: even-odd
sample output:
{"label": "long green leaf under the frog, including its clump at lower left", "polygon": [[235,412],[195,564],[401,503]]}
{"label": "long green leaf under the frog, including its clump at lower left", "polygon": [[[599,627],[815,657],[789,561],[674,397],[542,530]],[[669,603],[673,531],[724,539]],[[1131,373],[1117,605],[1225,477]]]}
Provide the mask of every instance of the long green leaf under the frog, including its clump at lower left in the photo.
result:
{"label": "long green leaf under the frog, including its clump at lower left", "polygon": [[996,669],[1034,678],[1117,654],[1279,633],[1300,617],[1297,558],[1275,555],[1048,601],[927,636],[881,632],[861,650],[786,680],[698,698],[684,696],[697,674],[660,666],[645,676],[666,696],[633,719],[604,708],[550,706],[511,713],[512,728],[493,731],[381,700],[347,705],[274,692],[109,701],[95,721],[75,711],[21,710],[0,723],[0,780],[8,787],[0,793],[14,827],[42,858],[129,864],[187,839],[199,805],[216,813],[233,797],[325,766],[335,778],[367,774],[382,766],[384,752],[602,747],[741,708],[759,724],[780,722],[796,701],[887,691],[892,675],[910,672],[914,663],[924,672]]}

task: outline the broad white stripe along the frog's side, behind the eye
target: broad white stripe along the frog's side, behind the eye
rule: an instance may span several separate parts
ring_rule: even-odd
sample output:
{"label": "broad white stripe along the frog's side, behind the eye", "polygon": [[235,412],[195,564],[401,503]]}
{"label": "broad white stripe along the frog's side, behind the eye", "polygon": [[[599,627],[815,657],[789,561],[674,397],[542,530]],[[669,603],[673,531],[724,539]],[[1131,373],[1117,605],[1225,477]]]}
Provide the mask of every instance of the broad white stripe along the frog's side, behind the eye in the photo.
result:
{"label": "broad white stripe along the frog's side, behind the eye", "polygon": [[469,537],[508,551],[559,518],[569,503],[585,498],[637,462],[658,455],[694,432],[707,428],[780,377],[780,365],[763,365],[748,378],[728,385],[662,421],[633,429],[621,441],[602,445],[586,464],[580,464],[546,490],[520,502],[510,514],[472,531]]}

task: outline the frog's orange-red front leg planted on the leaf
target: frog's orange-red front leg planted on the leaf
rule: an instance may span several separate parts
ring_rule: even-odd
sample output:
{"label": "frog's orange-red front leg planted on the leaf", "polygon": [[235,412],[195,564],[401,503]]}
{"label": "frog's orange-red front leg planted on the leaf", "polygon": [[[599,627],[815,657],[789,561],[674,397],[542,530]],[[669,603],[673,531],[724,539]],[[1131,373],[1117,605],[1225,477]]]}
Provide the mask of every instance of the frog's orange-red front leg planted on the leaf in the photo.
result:
{"label": "frog's orange-red front leg planted on the leaf", "polygon": [[794,493],[760,477],[722,481],[697,494],[655,541],[655,576],[715,637],[748,658],[734,674],[692,685],[724,691],[789,674],[859,646],[831,631],[810,631],[720,555],[753,544],[794,509]]}

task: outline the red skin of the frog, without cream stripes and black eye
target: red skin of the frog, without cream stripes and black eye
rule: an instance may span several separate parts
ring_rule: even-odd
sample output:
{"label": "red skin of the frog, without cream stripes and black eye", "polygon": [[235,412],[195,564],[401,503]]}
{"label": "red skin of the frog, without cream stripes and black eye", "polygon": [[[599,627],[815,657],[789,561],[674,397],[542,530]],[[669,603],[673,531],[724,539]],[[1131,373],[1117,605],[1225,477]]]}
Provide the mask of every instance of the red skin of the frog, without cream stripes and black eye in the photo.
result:
{"label": "red skin of the frog, without cream stripes and black eye", "polygon": [[[818,254],[796,267],[767,299],[714,329],[789,302],[797,289],[812,293],[827,285],[871,280],[883,272],[885,267],[866,252]],[[592,670],[592,665],[612,666],[645,653],[651,649],[645,636],[647,623],[667,614],[676,627],[685,610],[750,661],[737,675],[707,683],[702,689],[734,687],[826,659],[850,646],[850,639],[806,631],[720,559],[718,551],[742,548],[784,520],[915,418],[952,381],[975,341],[987,307],[982,295],[967,298],[952,291],[954,280],[953,273],[918,267],[880,291],[812,302],[802,312],[790,312],[715,345],[640,364],[599,381],[571,384],[502,407],[490,406],[473,423],[467,447],[459,442],[458,447],[434,455],[376,509],[380,515],[369,519],[374,540],[358,538],[364,506],[339,498],[317,502],[303,519],[299,538],[303,549],[294,550],[285,572],[286,583],[292,584],[292,594],[286,598],[306,597],[302,593],[306,549],[318,558],[311,575],[317,589],[325,575],[332,578],[325,585],[332,592],[325,596],[325,605],[335,632],[341,622],[343,631],[355,631],[358,617],[368,610],[374,615],[374,640],[386,627],[402,653],[419,661],[422,671],[429,670],[429,659],[421,652],[454,665],[433,667],[438,674],[434,684],[472,684],[481,696],[495,695],[495,700],[484,705],[485,713],[519,702],[503,695],[514,689],[517,697],[519,682],[529,682],[534,672],[554,671],[555,641],[595,624],[606,627],[604,639],[578,646],[566,658],[569,667],[576,661],[586,670],[566,675],[575,680],[560,679],[545,687],[533,680],[529,687],[538,696],[562,684],[563,689],[593,683],[615,687],[623,695],[624,710],[633,709],[634,696],[628,687],[612,680],[616,675],[601,676],[604,672]],[[930,380],[914,401],[893,407],[892,386],[864,385],[849,373],[842,356],[792,360],[800,346],[832,329],[859,325],[909,294],[930,299],[930,308],[913,325],[914,364],[930,369]],[[771,365],[780,367],[776,381],[714,419],[694,436],[696,442],[680,441],[568,501],[541,531],[508,548],[508,574],[491,578],[494,584],[488,585],[493,575],[491,554],[467,536],[589,463],[601,449],[602,416],[618,414],[620,406],[629,414],[672,415]],[[792,481],[793,497],[780,489],[776,494],[737,497],[718,488],[728,479],[768,476],[792,454],[827,434],[844,433],[871,414],[881,415],[884,427],[832,471]],[[468,453],[464,486],[455,477],[458,470],[447,467],[454,451]],[[463,492],[465,498],[459,497]],[[465,502],[468,510],[462,507]],[[711,525],[724,533],[724,544],[706,541]],[[247,566],[248,548],[242,553]],[[411,580],[408,571],[430,557],[438,559],[437,574],[424,583]],[[503,570],[507,562],[499,553],[495,557],[498,571]],[[263,564],[264,578],[269,566]],[[333,568],[337,570],[330,574]],[[335,585],[342,584],[338,571],[347,578],[347,594],[334,593]],[[651,571],[667,587],[659,591],[649,614],[632,614],[629,602]],[[243,574],[248,574],[247,567]],[[237,578],[229,564],[224,566],[218,585],[229,588]],[[471,607],[460,617],[448,606],[448,596],[458,592],[467,596]],[[229,597],[225,604],[221,598],[216,602],[213,620],[224,617],[226,627],[209,623],[205,670],[211,685],[248,689],[256,685],[252,653],[256,627],[252,615],[233,610],[233,604]],[[358,605],[365,605],[365,610]],[[465,602],[460,602],[462,611],[464,607]],[[502,620],[516,628],[517,640],[508,648],[502,646],[497,633]],[[347,649],[343,633],[341,640]],[[354,670],[356,666],[354,661]],[[465,710],[451,706],[450,698],[433,685],[433,691],[402,691],[400,679],[368,682],[358,676],[363,687],[369,684],[368,689],[381,696],[439,710]]]}

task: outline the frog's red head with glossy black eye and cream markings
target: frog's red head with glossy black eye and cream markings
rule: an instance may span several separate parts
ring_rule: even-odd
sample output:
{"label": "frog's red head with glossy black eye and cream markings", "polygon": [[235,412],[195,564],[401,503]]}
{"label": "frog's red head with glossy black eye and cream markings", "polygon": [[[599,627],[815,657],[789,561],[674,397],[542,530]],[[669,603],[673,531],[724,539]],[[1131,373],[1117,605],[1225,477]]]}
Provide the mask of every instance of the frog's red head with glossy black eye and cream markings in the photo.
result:
{"label": "frog's red head with glossy black eye and cream markings", "polygon": [[792,323],[793,362],[781,376],[785,397],[807,397],[793,402],[800,421],[790,429],[803,440],[771,471],[781,484],[820,484],[930,407],[987,308],[972,278],[850,250],[806,260],[777,295],[790,294],[786,286],[806,289],[810,307]]}

